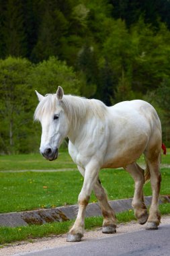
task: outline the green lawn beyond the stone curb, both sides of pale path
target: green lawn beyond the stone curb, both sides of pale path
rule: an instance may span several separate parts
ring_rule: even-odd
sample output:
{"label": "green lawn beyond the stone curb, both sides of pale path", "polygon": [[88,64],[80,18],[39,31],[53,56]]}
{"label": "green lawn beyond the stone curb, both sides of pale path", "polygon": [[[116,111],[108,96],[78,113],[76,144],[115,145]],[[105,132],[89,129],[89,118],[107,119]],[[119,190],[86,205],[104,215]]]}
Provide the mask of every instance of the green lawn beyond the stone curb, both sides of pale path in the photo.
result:
{"label": "green lawn beyond the stone curb, both sides of pale path", "polygon": [[[49,208],[77,203],[77,197],[83,185],[83,178],[77,171],[67,151],[62,150],[60,157],[54,162],[44,160],[39,155],[1,156],[0,172],[0,213],[20,212],[38,208]],[[170,164],[169,154],[162,156],[163,164]],[[144,158],[139,160],[144,164]],[[44,164],[44,165],[43,165]],[[5,167],[3,167],[5,166]],[[71,171],[31,172],[32,169],[73,168]],[[22,170],[24,172],[7,172]],[[169,194],[169,168],[161,168],[161,194]],[[105,169],[99,174],[101,183],[108,191],[110,200],[132,197],[134,181],[128,172],[121,169]],[[151,195],[150,183],[144,186],[144,195]],[[96,201],[94,195],[91,202]],[[8,202],[8,203],[7,203]]]}

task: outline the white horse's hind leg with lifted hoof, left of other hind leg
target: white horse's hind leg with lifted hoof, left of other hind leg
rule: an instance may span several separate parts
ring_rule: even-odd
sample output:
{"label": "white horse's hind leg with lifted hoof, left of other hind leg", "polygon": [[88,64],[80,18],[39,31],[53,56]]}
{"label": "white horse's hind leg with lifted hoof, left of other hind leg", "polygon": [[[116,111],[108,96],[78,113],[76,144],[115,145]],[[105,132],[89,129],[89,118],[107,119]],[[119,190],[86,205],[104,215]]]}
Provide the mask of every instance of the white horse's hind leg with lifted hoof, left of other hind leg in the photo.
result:
{"label": "white horse's hind leg with lifted hoof, left of other hind leg", "polygon": [[132,175],[134,179],[135,189],[134,198],[132,200],[132,206],[134,207],[134,214],[138,219],[139,224],[144,224],[148,219],[148,213],[146,205],[144,204],[143,196],[143,185],[144,185],[144,170],[138,166],[138,164],[133,163],[126,167],[126,170]]}

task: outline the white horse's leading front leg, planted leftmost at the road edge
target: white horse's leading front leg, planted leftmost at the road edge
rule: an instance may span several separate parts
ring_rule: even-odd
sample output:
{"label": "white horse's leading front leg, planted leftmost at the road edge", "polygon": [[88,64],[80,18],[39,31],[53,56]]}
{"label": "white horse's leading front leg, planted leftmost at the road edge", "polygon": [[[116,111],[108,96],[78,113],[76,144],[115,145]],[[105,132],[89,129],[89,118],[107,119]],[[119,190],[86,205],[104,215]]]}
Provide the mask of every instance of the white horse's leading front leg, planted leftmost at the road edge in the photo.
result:
{"label": "white horse's leading front leg, planted leftmost at the road edge", "polygon": [[79,193],[78,203],[79,211],[73,228],[67,235],[68,242],[79,242],[83,237],[84,226],[85,226],[85,208],[89,203],[91,191],[93,190],[94,184],[97,181],[99,172],[99,166],[93,162],[89,163],[85,168],[85,176],[81,193]]}

